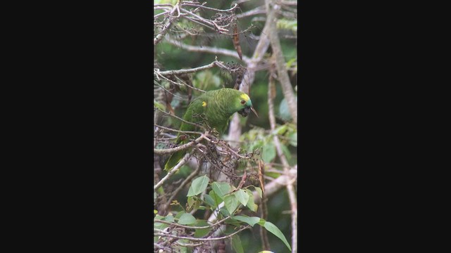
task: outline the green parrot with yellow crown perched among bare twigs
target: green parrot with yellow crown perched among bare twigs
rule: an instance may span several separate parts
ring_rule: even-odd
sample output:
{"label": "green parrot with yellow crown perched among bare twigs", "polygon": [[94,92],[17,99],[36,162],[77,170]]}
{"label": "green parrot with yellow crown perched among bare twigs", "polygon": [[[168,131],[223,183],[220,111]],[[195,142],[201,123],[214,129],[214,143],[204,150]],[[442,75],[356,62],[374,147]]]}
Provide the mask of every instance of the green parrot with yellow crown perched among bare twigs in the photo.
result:
{"label": "green parrot with yellow crown perched among bare twigs", "polygon": [[[183,116],[183,119],[187,122],[196,124],[205,123],[210,126],[211,129],[216,129],[219,134],[223,134],[228,126],[228,119],[235,112],[240,113],[242,117],[247,117],[252,110],[257,115],[252,101],[246,93],[238,91],[236,89],[218,89],[214,91],[207,91],[201,96],[192,100],[190,105]],[[203,115],[203,117],[194,117],[194,115]],[[180,131],[195,131],[196,126],[182,122]],[[185,144],[188,140],[183,133],[178,133],[176,143]],[[168,162],[164,166],[164,170],[168,171],[175,167],[180,160],[185,156],[187,150],[180,150],[173,153],[169,157]]]}

